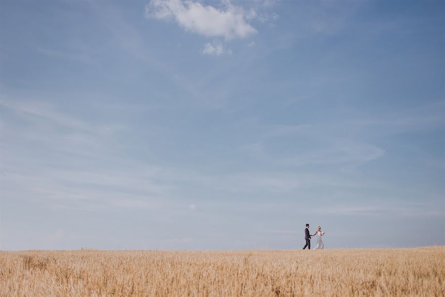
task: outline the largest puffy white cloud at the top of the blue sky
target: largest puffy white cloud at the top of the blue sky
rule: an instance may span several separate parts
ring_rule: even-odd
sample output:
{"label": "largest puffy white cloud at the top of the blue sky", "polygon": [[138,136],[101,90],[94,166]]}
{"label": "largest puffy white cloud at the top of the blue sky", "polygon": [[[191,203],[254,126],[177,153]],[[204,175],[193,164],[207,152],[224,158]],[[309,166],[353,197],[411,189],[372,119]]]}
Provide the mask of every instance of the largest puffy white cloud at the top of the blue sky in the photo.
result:
{"label": "largest puffy white cloud at the top of the blue sky", "polygon": [[175,20],[187,31],[207,37],[224,37],[226,40],[245,38],[257,30],[246,22],[256,14],[242,7],[225,3],[225,9],[203,5],[191,0],[151,0],[145,6],[147,18]]}

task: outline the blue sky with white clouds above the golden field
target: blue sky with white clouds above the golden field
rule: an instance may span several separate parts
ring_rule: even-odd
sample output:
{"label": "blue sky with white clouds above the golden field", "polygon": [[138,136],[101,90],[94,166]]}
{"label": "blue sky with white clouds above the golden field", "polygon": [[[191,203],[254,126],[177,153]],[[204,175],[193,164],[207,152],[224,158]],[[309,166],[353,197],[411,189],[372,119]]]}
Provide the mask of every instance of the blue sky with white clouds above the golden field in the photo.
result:
{"label": "blue sky with white clouds above the golden field", "polygon": [[0,248],[445,244],[445,2],[3,0]]}

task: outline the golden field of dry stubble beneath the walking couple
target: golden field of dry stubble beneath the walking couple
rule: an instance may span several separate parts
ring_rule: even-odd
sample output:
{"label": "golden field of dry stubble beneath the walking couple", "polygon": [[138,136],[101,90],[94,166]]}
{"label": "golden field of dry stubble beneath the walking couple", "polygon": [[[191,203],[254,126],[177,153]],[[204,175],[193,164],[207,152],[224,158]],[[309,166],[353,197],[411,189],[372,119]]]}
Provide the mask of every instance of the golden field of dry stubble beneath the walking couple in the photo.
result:
{"label": "golden field of dry stubble beneath the walking couple", "polygon": [[445,296],[445,247],[1,251],[1,296]]}

